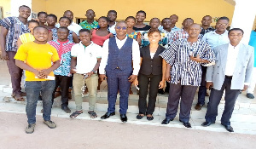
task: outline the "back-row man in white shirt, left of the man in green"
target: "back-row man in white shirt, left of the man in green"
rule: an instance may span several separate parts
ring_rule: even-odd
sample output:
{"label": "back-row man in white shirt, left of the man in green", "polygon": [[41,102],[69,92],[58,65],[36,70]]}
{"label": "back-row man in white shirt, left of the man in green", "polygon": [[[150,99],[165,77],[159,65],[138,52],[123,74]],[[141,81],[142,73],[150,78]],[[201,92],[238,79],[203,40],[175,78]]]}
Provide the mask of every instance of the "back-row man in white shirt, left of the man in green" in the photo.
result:
{"label": "back-row man in white shirt, left of the man in green", "polygon": [[[73,12],[71,10],[66,10],[63,16],[66,16],[67,18],[72,20],[72,23],[69,26],[67,26],[68,30],[75,32],[79,36],[79,31],[82,29],[82,27],[73,22]],[[59,28],[60,24],[56,24],[55,27]]]}

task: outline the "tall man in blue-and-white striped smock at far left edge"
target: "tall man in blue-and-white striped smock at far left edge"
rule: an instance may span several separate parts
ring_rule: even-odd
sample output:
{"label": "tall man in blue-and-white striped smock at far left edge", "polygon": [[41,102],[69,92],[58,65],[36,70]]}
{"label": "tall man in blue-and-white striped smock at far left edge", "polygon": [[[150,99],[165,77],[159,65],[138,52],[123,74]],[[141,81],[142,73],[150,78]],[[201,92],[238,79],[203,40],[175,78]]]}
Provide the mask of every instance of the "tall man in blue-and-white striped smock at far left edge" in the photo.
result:
{"label": "tall man in blue-and-white striped smock at far left edge", "polygon": [[24,100],[21,92],[22,69],[15,65],[15,54],[17,53],[17,40],[20,35],[29,32],[27,18],[31,14],[31,9],[26,5],[19,8],[19,16],[11,16],[0,20],[0,49],[2,50],[1,59],[7,60],[9,74],[11,76],[13,93],[15,100]]}

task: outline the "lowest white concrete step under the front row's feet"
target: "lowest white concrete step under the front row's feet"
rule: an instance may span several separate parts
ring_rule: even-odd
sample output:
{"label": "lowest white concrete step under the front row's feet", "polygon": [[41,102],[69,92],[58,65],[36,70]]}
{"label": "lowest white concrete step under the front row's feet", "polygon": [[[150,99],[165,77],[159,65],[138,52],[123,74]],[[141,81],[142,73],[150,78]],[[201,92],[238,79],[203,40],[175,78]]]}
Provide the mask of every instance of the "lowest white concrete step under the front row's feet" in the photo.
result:
{"label": "lowest white concrete step under the front row's feet", "polygon": [[[17,104],[17,103],[6,103],[6,102],[0,102],[0,112],[14,112],[14,113],[24,113],[26,114],[26,105],[25,104]],[[37,115],[42,116],[42,113],[40,112],[42,109],[42,106],[38,104],[38,107],[36,109]],[[72,112],[75,112],[75,109],[71,109]],[[192,125],[191,129],[202,129],[207,131],[215,131],[215,132],[225,132],[227,131],[224,129],[224,127],[220,124],[220,116],[217,117],[217,121],[215,124],[212,124],[210,127],[202,127],[201,123],[205,121],[204,115],[207,108],[203,107],[201,111],[195,111],[195,109],[192,108],[191,111],[191,118],[189,122]],[[219,109],[220,112],[223,112],[223,110]],[[88,110],[84,110],[84,113],[80,114],[78,119],[87,119],[87,120],[96,120],[96,121],[107,121],[107,122],[114,122],[114,123],[121,123],[119,119],[119,112],[116,112],[114,116],[109,117],[108,119],[102,120],[101,116],[105,113],[102,111],[96,111],[98,117],[91,118],[89,114],[87,113]],[[61,110],[60,107],[54,106],[52,108],[51,112],[52,119],[54,120],[54,117],[64,117],[64,118],[70,118],[69,115],[71,113],[66,113]],[[154,115],[153,121],[148,121],[146,117],[143,117],[143,119],[138,120],[136,118],[137,113],[127,113],[128,121],[127,123],[134,123],[134,124],[145,124],[145,125],[154,125],[158,127],[174,127],[174,128],[183,128],[186,129],[183,126],[183,123],[180,123],[178,121],[179,117],[177,114],[177,117],[174,118],[172,122],[169,124],[163,125],[161,124],[161,121],[165,118],[164,115]],[[240,134],[251,134],[256,135],[256,112],[250,111],[249,109],[240,109],[235,110],[233,113],[233,116],[231,118],[231,123],[233,128],[235,129],[235,133]],[[122,123],[125,124],[125,123]]]}

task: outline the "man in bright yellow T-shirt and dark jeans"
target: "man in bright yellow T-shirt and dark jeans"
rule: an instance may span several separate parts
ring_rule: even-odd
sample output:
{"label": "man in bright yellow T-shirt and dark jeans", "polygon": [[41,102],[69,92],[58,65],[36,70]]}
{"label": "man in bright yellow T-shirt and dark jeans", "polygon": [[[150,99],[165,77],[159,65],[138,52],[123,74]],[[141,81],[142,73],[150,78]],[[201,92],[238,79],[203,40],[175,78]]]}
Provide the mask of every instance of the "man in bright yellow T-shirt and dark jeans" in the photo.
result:
{"label": "man in bright yellow T-shirt and dark jeans", "polygon": [[40,92],[43,100],[44,123],[50,129],[56,127],[56,124],[50,120],[51,96],[55,89],[53,71],[60,66],[56,49],[47,43],[48,29],[45,26],[36,26],[33,31],[35,41],[20,45],[15,55],[16,66],[26,70],[27,134],[32,134],[36,125],[36,108]]}

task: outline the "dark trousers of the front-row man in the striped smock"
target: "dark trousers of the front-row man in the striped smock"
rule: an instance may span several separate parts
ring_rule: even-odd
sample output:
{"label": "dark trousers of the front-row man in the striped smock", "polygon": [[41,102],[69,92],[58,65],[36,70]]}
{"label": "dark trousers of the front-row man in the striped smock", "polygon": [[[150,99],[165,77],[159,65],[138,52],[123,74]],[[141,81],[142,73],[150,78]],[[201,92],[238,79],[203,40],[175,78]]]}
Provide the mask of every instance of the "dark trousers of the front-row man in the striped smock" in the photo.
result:
{"label": "dark trousers of the front-row man in the striped smock", "polygon": [[184,123],[189,122],[191,106],[194,100],[196,89],[197,86],[170,83],[166,118],[172,119],[176,117],[177,107],[180,99],[179,120]]}

